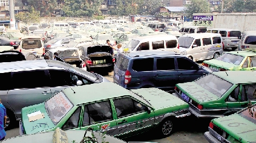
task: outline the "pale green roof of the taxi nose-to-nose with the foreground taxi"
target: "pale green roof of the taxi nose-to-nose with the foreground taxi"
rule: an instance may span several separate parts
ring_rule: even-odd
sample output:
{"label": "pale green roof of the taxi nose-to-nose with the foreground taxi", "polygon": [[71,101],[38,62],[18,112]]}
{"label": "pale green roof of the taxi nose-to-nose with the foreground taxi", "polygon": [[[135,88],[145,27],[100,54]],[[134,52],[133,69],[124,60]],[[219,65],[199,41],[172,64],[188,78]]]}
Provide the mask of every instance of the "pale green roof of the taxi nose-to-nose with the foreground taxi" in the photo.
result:
{"label": "pale green roof of the taxi nose-to-nose with the foreground taxi", "polygon": [[233,84],[256,83],[255,71],[220,71],[212,72],[212,74],[217,75],[218,77],[223,78]]}

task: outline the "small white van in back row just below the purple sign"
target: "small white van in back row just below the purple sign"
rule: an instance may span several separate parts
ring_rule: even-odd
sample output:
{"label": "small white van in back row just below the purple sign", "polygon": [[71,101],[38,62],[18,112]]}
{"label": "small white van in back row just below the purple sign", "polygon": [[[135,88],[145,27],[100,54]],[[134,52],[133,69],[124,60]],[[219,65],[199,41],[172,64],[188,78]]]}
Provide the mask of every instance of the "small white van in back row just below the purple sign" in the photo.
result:
{"label": "small white van in back row just below the purple sign", "polygon": [[206,33],[207,27],[198,27],[198,26],[184,26],[180,33],[182,34],[191,34],[191,33]]}

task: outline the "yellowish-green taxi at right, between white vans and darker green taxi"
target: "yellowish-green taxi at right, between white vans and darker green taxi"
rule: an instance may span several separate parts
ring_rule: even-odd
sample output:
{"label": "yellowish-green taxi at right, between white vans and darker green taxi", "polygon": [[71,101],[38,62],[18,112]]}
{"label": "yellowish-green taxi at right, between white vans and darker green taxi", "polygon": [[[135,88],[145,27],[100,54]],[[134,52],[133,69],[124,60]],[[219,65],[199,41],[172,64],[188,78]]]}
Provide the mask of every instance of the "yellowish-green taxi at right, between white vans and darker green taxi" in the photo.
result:
{"label": "yellowish-green taxi at right, between white vans and darker green taxi", "polygon": [[202,65],[211,68],[212,71],[254,71],[256,70],[256,52],[225,52],[216,59],[203,61]]}

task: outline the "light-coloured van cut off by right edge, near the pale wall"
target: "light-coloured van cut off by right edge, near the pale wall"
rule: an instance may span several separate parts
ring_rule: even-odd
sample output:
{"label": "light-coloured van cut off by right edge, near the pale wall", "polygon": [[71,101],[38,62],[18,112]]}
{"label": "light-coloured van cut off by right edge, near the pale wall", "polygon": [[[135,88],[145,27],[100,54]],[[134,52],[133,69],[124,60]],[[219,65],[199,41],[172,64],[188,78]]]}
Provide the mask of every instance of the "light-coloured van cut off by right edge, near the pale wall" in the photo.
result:
{"label": "light-coloured van cut off by right edge, near the pale wall", "polygon": [[252,48],[256,49],[256,31],[245,31],[242,36],[241,40],[239,41],[238,45],[239,49],[246,49]]}

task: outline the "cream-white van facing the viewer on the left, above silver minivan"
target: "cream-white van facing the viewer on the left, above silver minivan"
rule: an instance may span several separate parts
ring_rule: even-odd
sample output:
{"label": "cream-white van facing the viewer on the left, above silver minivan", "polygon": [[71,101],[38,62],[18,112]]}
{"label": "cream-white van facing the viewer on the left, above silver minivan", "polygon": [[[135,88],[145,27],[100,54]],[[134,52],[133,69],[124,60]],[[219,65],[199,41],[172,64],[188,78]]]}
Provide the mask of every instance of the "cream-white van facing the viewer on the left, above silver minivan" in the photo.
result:
{"label": "cream-white van facing the viewer on the left, above silver minivan", "polygon": [[16,51],[22,52],[26,60],[34,60],[44,55],[44,43],[39,36],[23,36]]}

